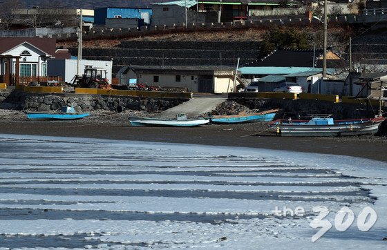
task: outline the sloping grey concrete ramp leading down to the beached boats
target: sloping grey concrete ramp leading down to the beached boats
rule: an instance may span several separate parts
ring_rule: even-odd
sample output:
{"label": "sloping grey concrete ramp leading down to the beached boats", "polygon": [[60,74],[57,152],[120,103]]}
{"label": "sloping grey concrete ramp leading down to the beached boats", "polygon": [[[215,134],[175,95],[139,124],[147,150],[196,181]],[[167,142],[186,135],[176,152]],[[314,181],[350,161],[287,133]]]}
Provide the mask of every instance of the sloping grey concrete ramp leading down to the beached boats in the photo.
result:
{"label": "sloping grey concrete ramp leading down to the beached boats", "polygon": [[158,113],[154,117],[156,118],[176,118],[177,114],[187,114],[188,117],[198,117],[204,113],[211,112],[219,104],[226,101],[226,98],[214,98],[214,97],[200,97],[190,99],[184,104],[180,104],[176,107],[169,108],[167,110]]}

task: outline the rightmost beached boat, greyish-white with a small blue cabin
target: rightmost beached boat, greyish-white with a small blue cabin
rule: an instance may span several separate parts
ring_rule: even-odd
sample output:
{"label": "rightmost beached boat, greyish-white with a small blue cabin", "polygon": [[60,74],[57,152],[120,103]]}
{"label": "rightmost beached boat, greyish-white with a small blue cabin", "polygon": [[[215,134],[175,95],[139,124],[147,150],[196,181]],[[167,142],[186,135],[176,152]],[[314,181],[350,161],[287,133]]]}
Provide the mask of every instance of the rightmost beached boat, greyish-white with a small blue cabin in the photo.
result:
{"label": "rightmost beached boat, greyish-white with a small blue cabin", "polygon": [[312,117],[310,120],[278,119],[270,122],[276,134],[289,137],[334,137],[375,135],[386,118],[334,120],[331,117]]}

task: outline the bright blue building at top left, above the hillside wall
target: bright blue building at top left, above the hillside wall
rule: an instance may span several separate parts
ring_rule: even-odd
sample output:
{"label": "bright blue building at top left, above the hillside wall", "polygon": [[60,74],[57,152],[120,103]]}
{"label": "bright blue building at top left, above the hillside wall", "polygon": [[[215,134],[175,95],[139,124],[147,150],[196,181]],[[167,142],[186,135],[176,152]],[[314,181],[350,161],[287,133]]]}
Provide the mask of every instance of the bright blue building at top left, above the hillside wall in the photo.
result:
{"label": "bright blue building at top left, above the hillside wall", "polygon": [[151,8],[115,8],[105,7],[94,10],[94,23],[105,25],[106,19],[144,19],[145,23],[150,23],[152,16]]}

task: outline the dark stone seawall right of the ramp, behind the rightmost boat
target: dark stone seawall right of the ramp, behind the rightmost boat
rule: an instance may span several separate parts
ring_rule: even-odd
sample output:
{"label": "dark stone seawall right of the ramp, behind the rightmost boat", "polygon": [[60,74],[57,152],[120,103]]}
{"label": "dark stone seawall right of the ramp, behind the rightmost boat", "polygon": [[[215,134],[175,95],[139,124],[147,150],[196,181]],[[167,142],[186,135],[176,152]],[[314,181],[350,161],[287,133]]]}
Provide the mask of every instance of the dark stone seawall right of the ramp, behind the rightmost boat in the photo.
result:
{"label": "dark stone seawall right of the ramp, behind the rightmost boat", "polygon": [[[297,119],[312,114],[332,114],[334,119],[360,119],[373,117],[371,107],[308,99],[232,99],[248,108],[280,108],[276,119]],[[375,112],[377,112],[375,110]]]}

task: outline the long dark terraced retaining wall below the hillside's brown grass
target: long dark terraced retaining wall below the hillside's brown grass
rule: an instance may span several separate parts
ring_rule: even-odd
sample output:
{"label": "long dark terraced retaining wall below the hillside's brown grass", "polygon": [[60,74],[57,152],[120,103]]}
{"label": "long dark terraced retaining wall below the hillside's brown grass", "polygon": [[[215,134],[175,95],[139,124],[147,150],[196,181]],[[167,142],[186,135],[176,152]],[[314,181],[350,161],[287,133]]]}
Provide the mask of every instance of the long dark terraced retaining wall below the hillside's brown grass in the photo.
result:
{"label": "long dark terraced retaining wall below the hillside's brown grass", "polygon": [[[84,48],[84,59],[113,59],[113,74],[128,65],[240,66],[259,57],[259,41],[122,41],[119,48]],[[71,48],[72,55],[77,54]]]}

